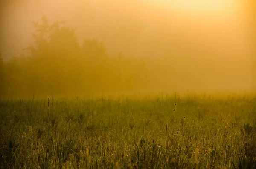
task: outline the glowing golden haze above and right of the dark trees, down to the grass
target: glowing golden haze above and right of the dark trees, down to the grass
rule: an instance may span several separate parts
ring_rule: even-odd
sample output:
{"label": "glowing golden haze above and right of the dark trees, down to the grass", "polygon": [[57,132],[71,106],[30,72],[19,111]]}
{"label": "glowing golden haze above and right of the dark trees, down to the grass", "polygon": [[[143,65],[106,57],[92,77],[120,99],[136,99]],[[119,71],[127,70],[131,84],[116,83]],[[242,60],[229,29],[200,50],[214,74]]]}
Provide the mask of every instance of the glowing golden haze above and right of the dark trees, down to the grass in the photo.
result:
{"label": "glowing golden haze above and right of the dark trees, down to the grass", "polygon": [[[19,56],[21,49],[34,43],[32,21],[45,15],[49,23],[67,20],[80,46],[84,39],[96,39],[104,44],[109,57],[122,52],[127,57],[146,58],[148,69],[175,67],[169,72],[163,69],[162,79],[157,75],[160,72],[154,71],[159,84],[152,86],[157,89],[168,88],[172,80],[177,82],[174,89],[255,89],[253,0],[0,2],[4,61]],[[180,72],[183,75],[173,79],[173,74]]]}

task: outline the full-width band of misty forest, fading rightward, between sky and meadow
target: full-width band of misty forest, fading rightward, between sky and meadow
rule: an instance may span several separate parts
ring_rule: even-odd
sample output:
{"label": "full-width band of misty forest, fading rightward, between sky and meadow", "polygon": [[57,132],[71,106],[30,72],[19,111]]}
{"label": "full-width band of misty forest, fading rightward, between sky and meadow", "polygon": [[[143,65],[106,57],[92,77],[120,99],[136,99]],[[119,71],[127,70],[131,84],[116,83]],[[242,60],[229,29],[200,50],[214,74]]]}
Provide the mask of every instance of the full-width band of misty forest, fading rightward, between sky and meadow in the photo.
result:
{"label": "full-width band of misty forest, fading rightward, between sky and meadow", "polygon": [[[102,42],[77,42],[75,29],[65,21],[50,24],[47,17],[32,22],[34,43],[7,62],[1,59],[1,97],[85,95],[185,89],[232,89],[251,86],[239,60],[209,60],[169,53],[155,57],[108,54]],[[209,64],[210,63],[210,64]],[[240,65],[240,70],[236,69]],[[229,69],[226,69],[229,66]],[[228,77],[228,78],[227,78]],[[247,79],[237,80],[237,79]],[[234,83],[236,80],[236,83]],[[245,84],[243,84],[245,83]]]}

